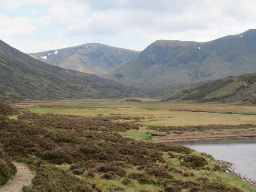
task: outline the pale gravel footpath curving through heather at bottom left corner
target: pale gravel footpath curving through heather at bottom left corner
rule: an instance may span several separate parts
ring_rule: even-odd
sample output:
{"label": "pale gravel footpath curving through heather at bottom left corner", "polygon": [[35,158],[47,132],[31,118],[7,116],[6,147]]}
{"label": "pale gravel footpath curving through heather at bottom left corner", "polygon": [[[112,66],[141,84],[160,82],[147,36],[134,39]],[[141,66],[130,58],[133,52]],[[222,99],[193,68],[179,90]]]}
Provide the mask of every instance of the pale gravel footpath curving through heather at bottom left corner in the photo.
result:
{"label": "pale gravel footpath curving through heather at bottom left corner", "polygon": [[29,168],[14,161],[12,163],[17,167],[17,173],[13,175],[11,180],[0,187],[1,192],[22,192],[23,186],[32,185],[31,180],[34,175]]}

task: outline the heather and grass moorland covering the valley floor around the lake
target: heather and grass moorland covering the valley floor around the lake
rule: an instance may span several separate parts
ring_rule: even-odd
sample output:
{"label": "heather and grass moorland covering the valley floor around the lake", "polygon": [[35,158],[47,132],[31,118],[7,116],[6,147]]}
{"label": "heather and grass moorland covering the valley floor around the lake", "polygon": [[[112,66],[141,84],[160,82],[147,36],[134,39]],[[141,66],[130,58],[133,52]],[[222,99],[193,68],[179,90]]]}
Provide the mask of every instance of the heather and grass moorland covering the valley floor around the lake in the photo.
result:
{"label": "heather and grass moorland covering the valley floor around the lake", "polygon": [[9,177],[15,172],[11,160],[34,172],[25,192],[256,191],[225,174],[226,165],[210,154],[153,142],[188,133],[255,134],[255,107],[149,98],[3,104],[1,166]]}

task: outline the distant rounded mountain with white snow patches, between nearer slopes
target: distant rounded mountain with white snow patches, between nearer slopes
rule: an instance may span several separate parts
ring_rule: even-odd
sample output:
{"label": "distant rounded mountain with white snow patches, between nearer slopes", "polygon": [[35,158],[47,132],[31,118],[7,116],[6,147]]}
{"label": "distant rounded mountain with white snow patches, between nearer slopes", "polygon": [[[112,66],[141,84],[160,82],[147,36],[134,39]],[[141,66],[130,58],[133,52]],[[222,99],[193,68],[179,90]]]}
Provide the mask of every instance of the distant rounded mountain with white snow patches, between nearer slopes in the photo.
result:
{"label": "distant rounded mountain with white snow patches, between nearer slopes", "polygon": [[99,43],[87,43],[28,55],[51,65],[104,77],[138,53],[139,51],[121,49]]}

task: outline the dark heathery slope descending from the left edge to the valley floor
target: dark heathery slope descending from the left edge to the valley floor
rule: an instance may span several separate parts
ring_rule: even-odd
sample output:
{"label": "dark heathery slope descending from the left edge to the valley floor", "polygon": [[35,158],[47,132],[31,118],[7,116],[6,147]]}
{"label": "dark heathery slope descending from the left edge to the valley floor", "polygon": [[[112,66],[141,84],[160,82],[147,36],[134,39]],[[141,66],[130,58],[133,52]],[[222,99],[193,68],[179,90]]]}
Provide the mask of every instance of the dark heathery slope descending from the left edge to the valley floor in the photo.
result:
{"label": "dark heathery slope descending from the left edge to the valley floor", "polygon": [[0,40],[0,99],[113,98],[135,89],[93,74],[63,69],[28,56]]}

